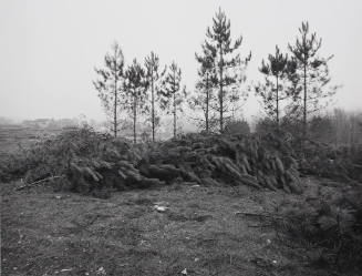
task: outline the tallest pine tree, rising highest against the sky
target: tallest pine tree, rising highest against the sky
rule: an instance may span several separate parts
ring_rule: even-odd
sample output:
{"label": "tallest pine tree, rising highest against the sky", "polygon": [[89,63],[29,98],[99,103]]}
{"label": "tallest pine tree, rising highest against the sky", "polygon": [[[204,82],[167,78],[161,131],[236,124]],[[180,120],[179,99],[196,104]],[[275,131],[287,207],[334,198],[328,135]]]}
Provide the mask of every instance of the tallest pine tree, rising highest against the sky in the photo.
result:
{"label": "tallest pine tree, rising highest against the sky", "polygon": [[215,53],[216,85],[219,92],[218,103],[214,108],[219,113],[219,127],[223,133],[224,121],[228,112],[234,111],[231,105],[236,104],[240,96],[246,96],[245,92],[240,91],[240,84],[245,81],[244,70],[251,59],[251,52],[245,60],[236,53],[241,45],[242,37],[235,42],[231,41],[230,20],[226,18],[221,9],[216,13],[213,22],[213,28],[207,28],[205,47],[209,52]]}

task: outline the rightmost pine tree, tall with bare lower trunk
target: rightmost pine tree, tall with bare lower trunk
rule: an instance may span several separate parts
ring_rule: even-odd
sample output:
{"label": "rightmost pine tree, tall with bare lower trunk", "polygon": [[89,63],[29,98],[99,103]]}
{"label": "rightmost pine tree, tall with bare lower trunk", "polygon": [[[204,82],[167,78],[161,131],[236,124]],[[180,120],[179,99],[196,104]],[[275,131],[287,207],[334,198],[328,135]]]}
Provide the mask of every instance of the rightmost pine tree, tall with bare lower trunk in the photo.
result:
{"label": "rightmost pine tree, tall with bare lower trunk", "polygon": [[308,22],[302,22],[299,34],[300,38],[297,38],[294,45],[288,47],[297,61],[297,70],[292,76],[296,83],[292,96],[297,106],[302,110],[303,137],[306,139],[308,115],[320,110],[321,100],[333,95],[338,86],[327,88],[330,82],[328,61],[332,57],[321,59],[317,55],[322,45],[322,39],[317,38],[316,32],[310,33]]}

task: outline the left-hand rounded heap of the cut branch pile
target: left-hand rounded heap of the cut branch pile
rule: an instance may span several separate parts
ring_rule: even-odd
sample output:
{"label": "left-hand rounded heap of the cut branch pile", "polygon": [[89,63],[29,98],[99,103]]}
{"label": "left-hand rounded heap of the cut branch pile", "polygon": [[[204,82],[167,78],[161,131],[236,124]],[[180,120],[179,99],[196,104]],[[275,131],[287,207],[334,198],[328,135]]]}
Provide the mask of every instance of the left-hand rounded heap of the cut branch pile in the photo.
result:
{"label": "left-hand rounded heap of the cut branch pile", "polygon": [[23,178],[25,184],[20,188],[61,178],[71,191],[81,193],[158,184],[139,175],[134,167],[139,160],[139,151],[126,140],[85,127],[39,141],[18,153],[2,167],[1,178]]}

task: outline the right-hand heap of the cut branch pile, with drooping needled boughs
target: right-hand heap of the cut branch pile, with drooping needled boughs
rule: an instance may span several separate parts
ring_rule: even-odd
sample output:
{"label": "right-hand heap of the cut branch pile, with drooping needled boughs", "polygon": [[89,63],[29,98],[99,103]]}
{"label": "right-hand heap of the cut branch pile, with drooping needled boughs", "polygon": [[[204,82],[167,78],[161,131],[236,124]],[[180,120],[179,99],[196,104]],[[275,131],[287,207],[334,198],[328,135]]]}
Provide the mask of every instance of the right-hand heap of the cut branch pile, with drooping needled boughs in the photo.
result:
{"label": "right-hand heap of the cut branch pile, with drooping needled boughs", "polygon": [[157,175],[156,167],[178,170],[185,181],[201,184],[226,183],[301,193],[298,164],[286,141],[267,135],[187,134],[159,144],[143,164],[146,175]]}

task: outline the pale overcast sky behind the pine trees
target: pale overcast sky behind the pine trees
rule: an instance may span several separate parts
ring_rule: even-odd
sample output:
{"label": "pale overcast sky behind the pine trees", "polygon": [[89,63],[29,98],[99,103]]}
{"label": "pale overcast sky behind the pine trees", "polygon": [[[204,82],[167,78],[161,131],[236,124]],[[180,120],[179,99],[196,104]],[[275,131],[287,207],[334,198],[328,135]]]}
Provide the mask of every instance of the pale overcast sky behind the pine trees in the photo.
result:
{"label": "pale overcast sky behind the pine trees", "polygon": [[[113,41],[126,63],[154,50],[162,63],[175,60],[186,85],[196,80],[195,51],[218,7],[231,20],[231,35],[242,34],[241,53],[252,52],[248,80],[260,76],[262,58],[279,44],[287,50],[301,21],[323,38],[321,55],[334,54],[332,81],[343,84],[335,105],[362,108],[361,0],[1,0],[0,116],[103,120],[92,85],[93,68]],[[258,113],[250,99],[247,117]]]}

